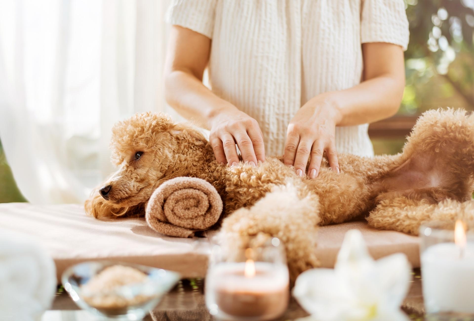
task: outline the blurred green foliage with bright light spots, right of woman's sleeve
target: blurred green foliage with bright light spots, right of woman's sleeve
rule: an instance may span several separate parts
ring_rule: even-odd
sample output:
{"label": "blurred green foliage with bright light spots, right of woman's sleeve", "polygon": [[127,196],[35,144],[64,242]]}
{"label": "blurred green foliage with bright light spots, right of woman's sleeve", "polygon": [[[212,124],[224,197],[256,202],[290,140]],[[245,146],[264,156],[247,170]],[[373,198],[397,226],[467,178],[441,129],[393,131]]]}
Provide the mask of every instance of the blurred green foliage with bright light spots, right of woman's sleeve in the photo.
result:
{"label": "blurred green foliage with bright light spots, right of woman's sleeve", "polygon": [[405,0],[410,45],[399,114],[474,110],[474,1]]}

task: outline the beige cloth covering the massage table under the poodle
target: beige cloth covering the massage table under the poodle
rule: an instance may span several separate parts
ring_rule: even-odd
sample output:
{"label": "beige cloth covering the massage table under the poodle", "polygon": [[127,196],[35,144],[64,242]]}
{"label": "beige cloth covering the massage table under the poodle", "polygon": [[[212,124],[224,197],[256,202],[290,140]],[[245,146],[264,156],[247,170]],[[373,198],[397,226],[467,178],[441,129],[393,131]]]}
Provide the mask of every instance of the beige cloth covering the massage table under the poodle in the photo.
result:
{"label": "beige cloth covering the massage table under the poodle", "polygon": [[[0,204],[0,227],[36,238],[56,263],[57,277],[75,263],[110,259],[155,266],[203,277],[207,270],[209,238],[174,238],[150,229],[143,218],[96,220],[82,205]],[[374,258],[402,252],[419,267],[419,239],[395,231],[370,229],[365,221],[321,227],[317,256],[333,267],[344,234],[360,229]]]}

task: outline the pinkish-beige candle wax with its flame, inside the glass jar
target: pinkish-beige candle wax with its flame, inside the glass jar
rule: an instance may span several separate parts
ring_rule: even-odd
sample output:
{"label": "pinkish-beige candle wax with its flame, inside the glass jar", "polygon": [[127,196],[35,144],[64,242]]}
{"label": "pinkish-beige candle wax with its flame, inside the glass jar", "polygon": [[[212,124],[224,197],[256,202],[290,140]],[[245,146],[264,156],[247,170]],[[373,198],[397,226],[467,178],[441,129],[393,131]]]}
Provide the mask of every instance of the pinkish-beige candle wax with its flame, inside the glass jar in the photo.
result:
{"label": "pinkish-beige candle wax with its flame, inside the glass jar", "polygon": [[211,267],[206,303],[222,320],[272,320],[286,310],[288,268],[268,262],[223,262]]}

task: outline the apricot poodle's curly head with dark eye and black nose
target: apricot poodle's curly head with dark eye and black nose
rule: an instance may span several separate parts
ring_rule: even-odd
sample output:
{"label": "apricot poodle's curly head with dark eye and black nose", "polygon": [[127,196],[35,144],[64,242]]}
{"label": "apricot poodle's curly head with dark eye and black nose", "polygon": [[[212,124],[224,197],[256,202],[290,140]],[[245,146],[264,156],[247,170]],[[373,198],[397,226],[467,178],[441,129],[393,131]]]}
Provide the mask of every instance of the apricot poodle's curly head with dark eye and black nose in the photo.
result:
{"label": "apricot poodle's curly head with dark eye and black nose", "polygon": [[120,207],[146,202],[176,153],[175,125],[164,114],[136,114],[112,128],[112,163],[118,166],[100,196]]}

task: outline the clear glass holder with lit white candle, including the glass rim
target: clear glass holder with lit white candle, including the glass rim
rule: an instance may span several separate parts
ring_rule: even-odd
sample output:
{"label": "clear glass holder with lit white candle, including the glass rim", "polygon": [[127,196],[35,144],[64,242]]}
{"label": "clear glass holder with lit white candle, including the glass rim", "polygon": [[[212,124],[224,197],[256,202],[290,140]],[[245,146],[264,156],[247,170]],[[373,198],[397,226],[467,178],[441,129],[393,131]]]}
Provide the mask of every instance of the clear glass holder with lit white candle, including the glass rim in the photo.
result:
{"label": "clear glass holder with lit white candle, including the glass rim", "polygon": [[461,221],[420,227],[423,298],[427,313],[474,314],[474,229]]}

